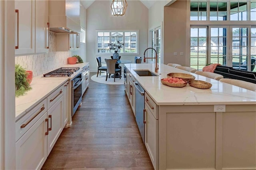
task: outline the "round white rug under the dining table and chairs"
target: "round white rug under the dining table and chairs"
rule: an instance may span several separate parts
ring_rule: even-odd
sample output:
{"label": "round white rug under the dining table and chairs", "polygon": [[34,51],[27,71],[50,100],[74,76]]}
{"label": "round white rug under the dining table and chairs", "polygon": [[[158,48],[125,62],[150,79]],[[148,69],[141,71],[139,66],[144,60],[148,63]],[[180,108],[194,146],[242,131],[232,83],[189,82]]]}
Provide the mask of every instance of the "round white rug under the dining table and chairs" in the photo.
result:
{"label": "round white rug under the dining table and chairs", "polygon": [[91,80],[96,81],[98,83],[108,84],[108,85],[124,85],[124,74],[122,73],[121,79],[119,79],[119,77],[118,78],[116,77],[116,82],[114,82],[114,78],[112,78],[111,76],[106,81],[105,73],[101,73],[101,75],[99,73],[98,77],[97,77],[97,74],[93,75],[91,77]]}

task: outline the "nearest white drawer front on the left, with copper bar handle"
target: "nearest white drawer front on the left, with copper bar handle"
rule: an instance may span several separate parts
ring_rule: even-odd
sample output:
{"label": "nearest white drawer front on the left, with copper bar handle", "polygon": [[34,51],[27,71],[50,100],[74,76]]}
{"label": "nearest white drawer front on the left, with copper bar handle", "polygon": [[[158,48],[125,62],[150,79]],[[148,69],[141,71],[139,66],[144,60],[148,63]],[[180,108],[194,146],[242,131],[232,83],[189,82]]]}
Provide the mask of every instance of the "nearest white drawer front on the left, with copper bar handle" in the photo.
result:
{"label": "nearest white drawer front on the left, with copper bar handle", "polygon": [[16,141],[24,134],[44,113],[47,111],[47,101],[44,99],[41,103],[31,109],[24,117],[16,122]]}

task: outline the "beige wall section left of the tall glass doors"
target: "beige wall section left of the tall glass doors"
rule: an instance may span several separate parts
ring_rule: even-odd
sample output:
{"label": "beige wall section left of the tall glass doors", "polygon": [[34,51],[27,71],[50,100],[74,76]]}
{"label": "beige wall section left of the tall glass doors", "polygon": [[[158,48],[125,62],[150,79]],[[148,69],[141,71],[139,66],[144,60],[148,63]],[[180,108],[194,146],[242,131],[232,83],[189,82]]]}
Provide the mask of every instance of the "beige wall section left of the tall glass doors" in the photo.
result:
{"label": "beige wall section left of the tall glass doors", "polygon": [[[186,1],[177,0],[164,7],[164,64],[186,66],[187,21]],[[174,55],[177,52],[177,55]],[[183,55],[180,55],[183,52]]]}

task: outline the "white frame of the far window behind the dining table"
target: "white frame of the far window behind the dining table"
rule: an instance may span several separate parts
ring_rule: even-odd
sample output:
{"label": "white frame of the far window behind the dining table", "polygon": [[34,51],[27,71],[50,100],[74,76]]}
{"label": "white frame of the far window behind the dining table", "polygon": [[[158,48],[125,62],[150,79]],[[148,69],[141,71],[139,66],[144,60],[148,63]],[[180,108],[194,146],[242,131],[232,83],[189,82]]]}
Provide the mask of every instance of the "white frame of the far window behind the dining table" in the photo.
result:
{"label": "white frame of the far window behind the dining table", "polygon": [[[122,55],[138,55],[139,54],[139,30],[95,30],[95,40],[96,40],[96,42],[95,42],[95,44],[96,44],[96,48],[95,48],[95,52],[96,52],[96,55],[111,55],[111,54],[113,54],[114,52],[112,52],[111,50],[110,50],[110,52],[105,52],[105,53],[102,53],[102,52],[98,52],[98,32],[109,32],[109,42],[110,42],[110,40],[112,40],[112,37],[111,37],[111,34],[112,33],[114,33],[114,32],[122,32],[123,33],[123,37],[122,37],[122,42],[124,42],[125,43],[125,32],[136,32],[136,37],[137,37],[137,39],[136,39],[136,52],[134,52],[134,53],[131,53],[131,52],[125,52],[125,49],[130,49],[130,48],[127,48],[125,45],[122,47],[122,52],[118,52],[119,54],[122,54]],[[131,39],[129,39],[129,41],[130,41],[130,43],[134,43],[134,42],[131,42]],[[100,49],[100,51],[102,51],[101,49]]]}

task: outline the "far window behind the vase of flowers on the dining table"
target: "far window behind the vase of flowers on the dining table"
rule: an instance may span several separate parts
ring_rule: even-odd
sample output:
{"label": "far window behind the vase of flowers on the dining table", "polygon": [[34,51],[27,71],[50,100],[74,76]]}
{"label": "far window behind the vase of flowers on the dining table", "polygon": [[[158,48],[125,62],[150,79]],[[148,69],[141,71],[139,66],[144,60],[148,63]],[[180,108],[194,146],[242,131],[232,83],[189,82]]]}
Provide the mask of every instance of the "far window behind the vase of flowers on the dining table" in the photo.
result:
{"label": "far window behind the vase of flowers on the dining table", "polygon": [[110,40],[124,42],[118,53],[138,53],[138,31],[98,31],[97,40],[98,53],[113,53],[108,47]]}

